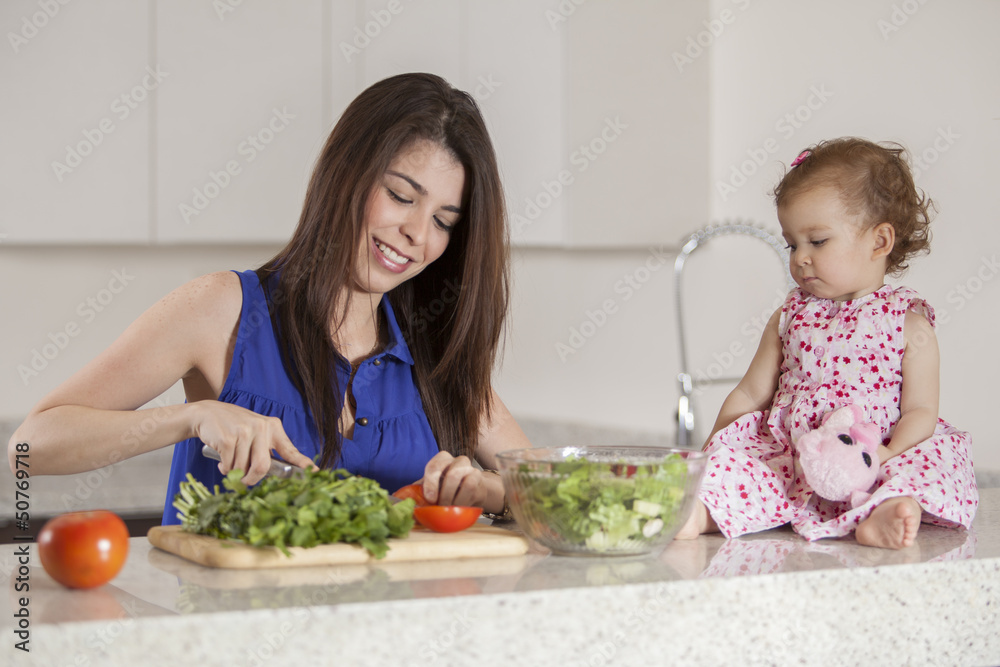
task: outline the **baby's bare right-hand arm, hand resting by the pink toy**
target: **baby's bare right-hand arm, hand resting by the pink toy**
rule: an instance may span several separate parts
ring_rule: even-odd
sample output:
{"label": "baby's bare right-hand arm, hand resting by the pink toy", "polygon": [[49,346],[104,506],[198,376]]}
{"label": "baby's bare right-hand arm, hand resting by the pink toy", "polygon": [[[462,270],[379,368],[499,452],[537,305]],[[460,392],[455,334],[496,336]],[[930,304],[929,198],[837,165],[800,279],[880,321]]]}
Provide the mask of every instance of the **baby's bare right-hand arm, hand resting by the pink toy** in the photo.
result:
{"label": "baby's bare right-hand arm, hand resting by the pink toy", "polygon": [[879,462],[902,454],[934,434],[940,393],[937,337],[923,315],[907,311],[903,321],[903,387],[900,417],[888,447],[879,448]]}

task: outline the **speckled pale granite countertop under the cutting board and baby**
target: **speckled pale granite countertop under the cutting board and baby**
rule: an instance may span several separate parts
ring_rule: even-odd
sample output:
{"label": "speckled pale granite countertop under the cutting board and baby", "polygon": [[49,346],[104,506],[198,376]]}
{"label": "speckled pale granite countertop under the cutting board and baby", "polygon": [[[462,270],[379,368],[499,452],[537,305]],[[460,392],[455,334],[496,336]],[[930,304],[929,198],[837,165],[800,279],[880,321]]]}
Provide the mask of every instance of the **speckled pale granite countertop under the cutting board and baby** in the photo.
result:
{"label": "speckled pale granite countertop under the cutting board and baby", "polygon": [[19,574],[19,546],[0,546],[5,665],[1000,664],[1000,489],[971,530],[925,525],[899,552],[775,530],[644,558],[231,571],[133,538],[111,584],[69,591],[33,544]]}

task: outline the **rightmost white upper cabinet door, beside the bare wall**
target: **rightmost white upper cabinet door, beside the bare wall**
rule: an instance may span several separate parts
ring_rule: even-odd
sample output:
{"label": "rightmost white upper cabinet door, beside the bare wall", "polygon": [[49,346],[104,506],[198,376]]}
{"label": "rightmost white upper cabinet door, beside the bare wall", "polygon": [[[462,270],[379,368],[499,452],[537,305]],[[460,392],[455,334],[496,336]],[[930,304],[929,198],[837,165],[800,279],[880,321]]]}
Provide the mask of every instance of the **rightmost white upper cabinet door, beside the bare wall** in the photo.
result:
{"label": "rightmost white upper cabinet door, beside the bare wall", "polygon": [[708,4],[590,2],[563,24],[569,245],[676,243],[707,223],[710,55],[675,54],[709,30]]}

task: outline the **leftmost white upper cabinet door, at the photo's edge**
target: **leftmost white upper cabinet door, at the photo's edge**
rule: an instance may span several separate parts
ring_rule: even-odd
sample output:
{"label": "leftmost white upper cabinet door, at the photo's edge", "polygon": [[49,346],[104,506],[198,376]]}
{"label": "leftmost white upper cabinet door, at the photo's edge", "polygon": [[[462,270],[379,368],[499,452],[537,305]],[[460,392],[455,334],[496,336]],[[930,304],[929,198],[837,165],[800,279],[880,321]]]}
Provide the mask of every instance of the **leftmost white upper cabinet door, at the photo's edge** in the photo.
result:
{"label": "leftmost white upper cabinet door, at the photo's edge", "polygon": [[0,4],[5,243],[149,240],[149,3]]}

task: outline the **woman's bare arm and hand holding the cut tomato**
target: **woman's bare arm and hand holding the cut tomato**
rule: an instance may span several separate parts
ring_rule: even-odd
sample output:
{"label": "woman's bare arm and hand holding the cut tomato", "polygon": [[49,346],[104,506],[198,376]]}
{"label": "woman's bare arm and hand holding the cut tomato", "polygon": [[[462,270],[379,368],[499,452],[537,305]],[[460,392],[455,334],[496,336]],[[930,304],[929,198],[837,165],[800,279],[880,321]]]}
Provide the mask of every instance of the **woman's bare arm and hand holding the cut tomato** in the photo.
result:
{"label": "woman's bare arm and hand holding the cut tomato", "polygon": [[[493,392],[490,420],[479,431],[476,461],[485,470],[496,470],[496,454],[507,449],[531,447],[528,436]],[[471,505],[499,514],[504,508],[500,476],[484,472],[465,456],[438,452],[424,469],[424,497],[439,505]]]}

